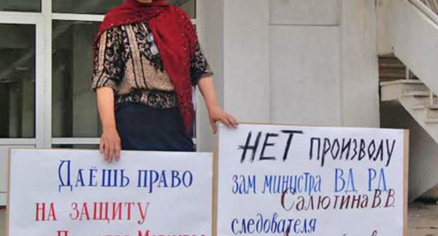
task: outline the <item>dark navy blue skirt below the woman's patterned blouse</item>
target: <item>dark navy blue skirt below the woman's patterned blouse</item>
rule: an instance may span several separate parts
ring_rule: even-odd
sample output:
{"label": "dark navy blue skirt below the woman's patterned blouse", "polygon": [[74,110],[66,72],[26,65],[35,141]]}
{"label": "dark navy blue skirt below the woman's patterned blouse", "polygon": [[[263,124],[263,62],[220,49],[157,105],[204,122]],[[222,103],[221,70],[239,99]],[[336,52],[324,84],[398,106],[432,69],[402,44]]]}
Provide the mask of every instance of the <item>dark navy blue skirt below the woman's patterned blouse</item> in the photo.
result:
{"label": "dark navy blue skirt below the woman's patterned blouse", "polygon": [[194,152],[178,108],[158,109],[138,103],[119,105],[117,131],[122,150]]}

